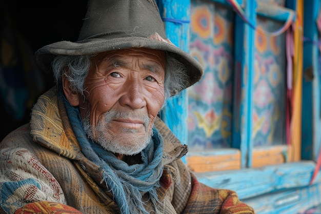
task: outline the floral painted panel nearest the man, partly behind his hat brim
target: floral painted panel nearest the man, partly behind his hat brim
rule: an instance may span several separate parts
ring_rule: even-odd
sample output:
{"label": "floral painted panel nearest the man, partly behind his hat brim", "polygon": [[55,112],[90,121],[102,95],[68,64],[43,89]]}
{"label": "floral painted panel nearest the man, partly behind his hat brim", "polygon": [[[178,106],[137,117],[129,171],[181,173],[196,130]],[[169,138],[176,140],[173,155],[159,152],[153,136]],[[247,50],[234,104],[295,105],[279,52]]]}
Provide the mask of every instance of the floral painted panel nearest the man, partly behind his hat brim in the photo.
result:
{"label": "floral painted panel nearest the man, partly behind his hat brim", "polygon": [[205,72],[188,89],[190,148],[231,147],[233,19],[233,11],[222,5],[191,2],[190,53]]}

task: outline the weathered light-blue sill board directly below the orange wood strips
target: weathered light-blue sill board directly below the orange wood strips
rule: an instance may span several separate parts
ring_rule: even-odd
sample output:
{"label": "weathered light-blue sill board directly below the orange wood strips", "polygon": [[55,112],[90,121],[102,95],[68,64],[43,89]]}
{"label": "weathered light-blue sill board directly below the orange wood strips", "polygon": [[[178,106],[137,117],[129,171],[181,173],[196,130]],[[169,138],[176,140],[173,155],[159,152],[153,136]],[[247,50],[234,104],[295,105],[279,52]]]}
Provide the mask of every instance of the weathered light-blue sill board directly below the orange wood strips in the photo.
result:
{"label": "weathered light-blue sill board directly below the orange wood strips", "polygon": [[[240,199],[309,185],[315,163],[300,161],[242,170],[195,173],[197,179],[214,188],[232,189]],[[314,184],[321,182],[318,174]]]}

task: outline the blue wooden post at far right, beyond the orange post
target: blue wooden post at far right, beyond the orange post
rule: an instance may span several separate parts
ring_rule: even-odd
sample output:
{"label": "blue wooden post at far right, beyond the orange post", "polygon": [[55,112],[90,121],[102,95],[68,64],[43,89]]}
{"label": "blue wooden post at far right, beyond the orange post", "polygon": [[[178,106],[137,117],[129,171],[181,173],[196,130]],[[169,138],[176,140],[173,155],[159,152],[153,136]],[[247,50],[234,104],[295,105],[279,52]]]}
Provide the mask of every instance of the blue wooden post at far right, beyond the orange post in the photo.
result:
{"label": "blue wooden post at far right, beyond the orange post", "polygon": [[[311,4],[312,3],[312,4]],[[315,25],[319,1],[305,2],[304,36],[318,40]],[[304,43],[303,98],[302,98],[302,158],[316,160],[320,147],[320,82],[318,75],[318,48],[312,43]],[[306,78],[305,72],[312,69],[314,78]]]}

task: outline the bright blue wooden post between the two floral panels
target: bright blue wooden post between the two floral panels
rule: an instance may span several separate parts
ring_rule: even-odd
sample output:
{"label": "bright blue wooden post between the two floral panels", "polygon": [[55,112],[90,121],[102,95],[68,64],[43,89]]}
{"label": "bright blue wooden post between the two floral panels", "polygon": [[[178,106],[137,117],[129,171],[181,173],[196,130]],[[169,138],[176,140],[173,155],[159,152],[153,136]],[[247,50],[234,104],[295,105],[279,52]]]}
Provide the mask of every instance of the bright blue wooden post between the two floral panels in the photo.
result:
{"label": "bright blue wooden post between the two floral panels", "polygon": [[[245,14],[256,24],[256,3],[249,1],[244,9]],[[240,93],[240,97],[235,100],[234,112],[238,120],[233,127],[233,145],[239,145],[241,150],[242,168],[252,165],[252,108],[253,108],[253,59],[254,59],[254,29],[239,17],[235,21],[235,71],[236,82],[234,92]],[[240,72],[240,73],[239,73]],[[236,99],[236,98],[234,98]],[[239,142],[234,142],[239,140]]]}

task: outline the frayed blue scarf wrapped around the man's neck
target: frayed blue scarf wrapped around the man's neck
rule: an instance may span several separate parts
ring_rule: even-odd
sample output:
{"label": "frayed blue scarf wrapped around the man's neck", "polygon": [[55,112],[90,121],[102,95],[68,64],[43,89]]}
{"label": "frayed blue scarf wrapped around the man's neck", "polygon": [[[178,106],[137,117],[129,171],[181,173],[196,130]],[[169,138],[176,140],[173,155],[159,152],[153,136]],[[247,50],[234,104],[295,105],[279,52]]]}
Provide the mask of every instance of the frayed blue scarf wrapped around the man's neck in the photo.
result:
{"label": "frayed blue scarf wrapped around the man's neck", "polygon": [[112,191],[121,213],[148,213],[144,208],[141,192],[149,192],[154,209],[159,213],[156,188],[159,187],[159,179],[163,172],[163,138],[158,130],[153,127],[152,140],[141,152],[143,163],[129,166],[126,162],[118,160],[112,152],[88,139],[79,109],[71,106],[63,94],[61,96],[82,152],[103,170],[107,189]]}

